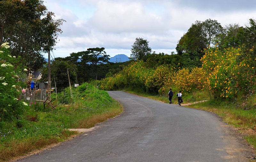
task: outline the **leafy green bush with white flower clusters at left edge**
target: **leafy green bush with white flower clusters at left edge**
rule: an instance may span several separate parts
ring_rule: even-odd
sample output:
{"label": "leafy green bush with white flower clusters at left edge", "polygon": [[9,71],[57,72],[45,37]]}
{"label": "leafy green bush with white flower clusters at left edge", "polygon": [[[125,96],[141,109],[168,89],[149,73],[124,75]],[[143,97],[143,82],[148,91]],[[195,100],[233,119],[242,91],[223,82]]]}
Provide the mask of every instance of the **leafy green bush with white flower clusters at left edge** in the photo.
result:
{"label": "leafy green bush with white flower clusters at left edge", "polygon": [[[10,46],[0,46],[0,122],[19,117],[27,103],[20,100],[22,89],[26,87],[25,73],[20,57],[12,56]],[[0,124],[1,127],[1,124]]]}

